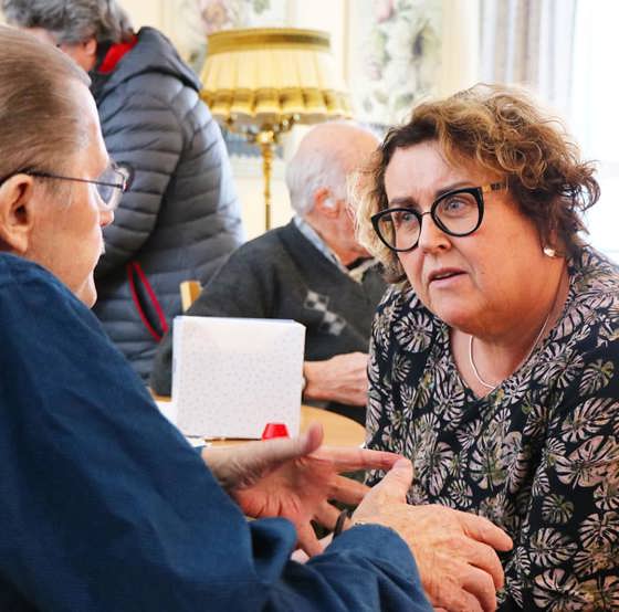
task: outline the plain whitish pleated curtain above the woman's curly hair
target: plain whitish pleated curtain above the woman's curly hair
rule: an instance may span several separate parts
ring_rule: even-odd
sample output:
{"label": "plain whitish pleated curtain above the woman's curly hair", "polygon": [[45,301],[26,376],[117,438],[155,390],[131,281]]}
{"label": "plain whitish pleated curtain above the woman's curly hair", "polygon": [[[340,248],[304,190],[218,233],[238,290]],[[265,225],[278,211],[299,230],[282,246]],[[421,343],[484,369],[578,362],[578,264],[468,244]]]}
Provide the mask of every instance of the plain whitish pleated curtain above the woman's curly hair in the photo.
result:
{"label": "plain whitish pleated curtain above the woman's curly hair", "polygon": [[529,86],[567,113],[577,0],[481,0],[481,76]]}

